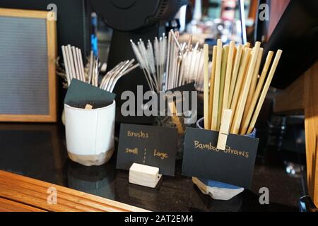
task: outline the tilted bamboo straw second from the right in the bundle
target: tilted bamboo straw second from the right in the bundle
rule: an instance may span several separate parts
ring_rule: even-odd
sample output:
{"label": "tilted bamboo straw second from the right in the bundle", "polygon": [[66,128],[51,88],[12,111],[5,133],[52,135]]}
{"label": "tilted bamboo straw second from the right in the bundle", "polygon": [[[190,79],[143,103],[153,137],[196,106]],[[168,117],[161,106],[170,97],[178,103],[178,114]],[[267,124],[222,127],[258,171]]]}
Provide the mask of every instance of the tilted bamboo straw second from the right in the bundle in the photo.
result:
{"label": "tilted bamboo straw second from the right in the bundle", "polygon": [[255,106],[257,105],[257,100],[259,100],[259,94],[261,93],[261,88],[263,88],[263,84],[267,75],[267,71],[269,71],[269,66],[271,65],[272,58],[273,58],[273,52],[270,51],[269,54],[267,54],[263,70],[261,71],[261,78],[259,78],[259,83],[257,84],[257,89],[255,90],[251,105],[249,106],[247,117],[243,121],[242,129],[240,132],[240,134],[242,135],[245,135],[245,133],[247,132],[249,121],[251,121],[251,117],[254,112]]}

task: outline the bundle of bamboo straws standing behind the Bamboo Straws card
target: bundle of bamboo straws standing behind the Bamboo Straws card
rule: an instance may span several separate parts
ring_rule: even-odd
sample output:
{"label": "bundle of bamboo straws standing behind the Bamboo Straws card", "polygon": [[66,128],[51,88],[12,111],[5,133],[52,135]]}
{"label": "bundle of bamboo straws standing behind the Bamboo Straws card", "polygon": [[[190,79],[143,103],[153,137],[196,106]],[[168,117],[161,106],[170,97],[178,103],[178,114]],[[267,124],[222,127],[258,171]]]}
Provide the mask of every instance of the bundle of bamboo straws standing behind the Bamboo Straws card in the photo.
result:
{"label": "bundle of bamboo straws standing behind the Bamboo Straws card", "polygon": [[259,73],[263,51],[260,42],[250,48],[249,43],[223,46],[218,40],[209,78],[208,44],[204,45],[204,129],[219,131],[223,109],[230,109],[230,133],[252,133],[282,54],[278,50],[271,64],[270,51]]}

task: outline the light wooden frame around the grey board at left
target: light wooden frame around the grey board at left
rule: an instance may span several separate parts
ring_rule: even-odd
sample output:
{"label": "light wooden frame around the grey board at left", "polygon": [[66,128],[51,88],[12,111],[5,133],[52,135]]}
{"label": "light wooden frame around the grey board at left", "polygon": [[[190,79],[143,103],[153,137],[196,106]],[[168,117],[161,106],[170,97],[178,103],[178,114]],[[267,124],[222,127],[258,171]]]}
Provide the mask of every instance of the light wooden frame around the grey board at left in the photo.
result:
{"label": "light wooden frame around the grey board at left", "polygon": [[[57,25],[55,20],[48,20],[49,11],[20,10],[0,8],[0,17],[42,18],[47,24],[47,71],[49,91],[49,114],[0,114],[0,121],[30,121],[56,122],[57,121]],[[51,14],[52,15],[52,14]]]}

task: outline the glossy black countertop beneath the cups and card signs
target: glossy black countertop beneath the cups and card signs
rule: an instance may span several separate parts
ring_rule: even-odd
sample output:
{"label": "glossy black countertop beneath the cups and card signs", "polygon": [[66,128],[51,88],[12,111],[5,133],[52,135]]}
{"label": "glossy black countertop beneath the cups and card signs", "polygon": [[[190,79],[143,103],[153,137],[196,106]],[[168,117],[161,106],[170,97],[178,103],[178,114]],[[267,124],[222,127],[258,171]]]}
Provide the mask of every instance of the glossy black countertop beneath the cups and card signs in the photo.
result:
{"label": "glossy black countertop beneath the cups and card signs", "polygon": [[[64,126],[0,124],[0,169],[153,211],[298,211],[302,177],[290,177],[283,165],[257,160],[252,191],[230,201],[215,201],[184,177],[181,161],[175,177],[163,176],[156,189],[129,184],[128,172],[115,169],[116,152],[100,167],[69,160]],[[266,162],[266,163],[264,163]],[[269,205],[259,204],[259,189],[269,188]]]}

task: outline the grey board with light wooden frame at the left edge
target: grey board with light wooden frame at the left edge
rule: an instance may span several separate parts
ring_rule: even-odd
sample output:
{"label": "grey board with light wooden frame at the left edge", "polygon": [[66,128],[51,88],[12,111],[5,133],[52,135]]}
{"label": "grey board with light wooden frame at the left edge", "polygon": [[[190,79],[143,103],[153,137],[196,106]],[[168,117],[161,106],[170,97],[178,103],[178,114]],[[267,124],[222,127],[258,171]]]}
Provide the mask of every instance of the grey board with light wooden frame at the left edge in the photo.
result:
{"label": "grey board with light wooden frame at the left edge", "polygon": [[47,14],[0,8],[0,121],[57,120],[56,25]]}

